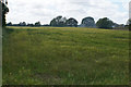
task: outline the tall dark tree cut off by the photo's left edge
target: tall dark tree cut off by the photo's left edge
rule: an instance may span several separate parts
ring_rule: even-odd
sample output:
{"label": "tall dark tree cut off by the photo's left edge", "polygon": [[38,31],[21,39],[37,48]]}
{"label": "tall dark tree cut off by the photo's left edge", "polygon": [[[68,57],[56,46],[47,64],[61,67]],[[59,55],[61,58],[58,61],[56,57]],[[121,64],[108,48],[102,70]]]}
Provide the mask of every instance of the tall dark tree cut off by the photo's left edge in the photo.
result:
{"label": "tall dark tree cut off by the photo's left edge", "polygon": [[9,8],[7,4],[0,1],[0,4],[2,4],[2,27],[5,26],[5,14],[9,12]]}

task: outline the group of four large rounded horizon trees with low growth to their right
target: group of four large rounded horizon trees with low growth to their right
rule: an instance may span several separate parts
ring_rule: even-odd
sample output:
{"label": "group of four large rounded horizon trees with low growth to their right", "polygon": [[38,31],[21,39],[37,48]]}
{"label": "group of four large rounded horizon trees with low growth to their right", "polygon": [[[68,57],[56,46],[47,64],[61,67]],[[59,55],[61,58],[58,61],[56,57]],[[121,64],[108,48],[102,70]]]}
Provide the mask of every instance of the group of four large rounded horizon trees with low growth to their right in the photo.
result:
{"label": "group of four large rounded horizon trees with low growth to their right", "polygon": [[57,16],[50,21],[50,26],[56,27],[96,27],[96,28],[124,28],[128,25],[117,24],[109,20],[108,17],[99,18],[97,22],[92,16],[82,18],[80,25],[78,21],[73,17],[67,20],[67,17]]}

